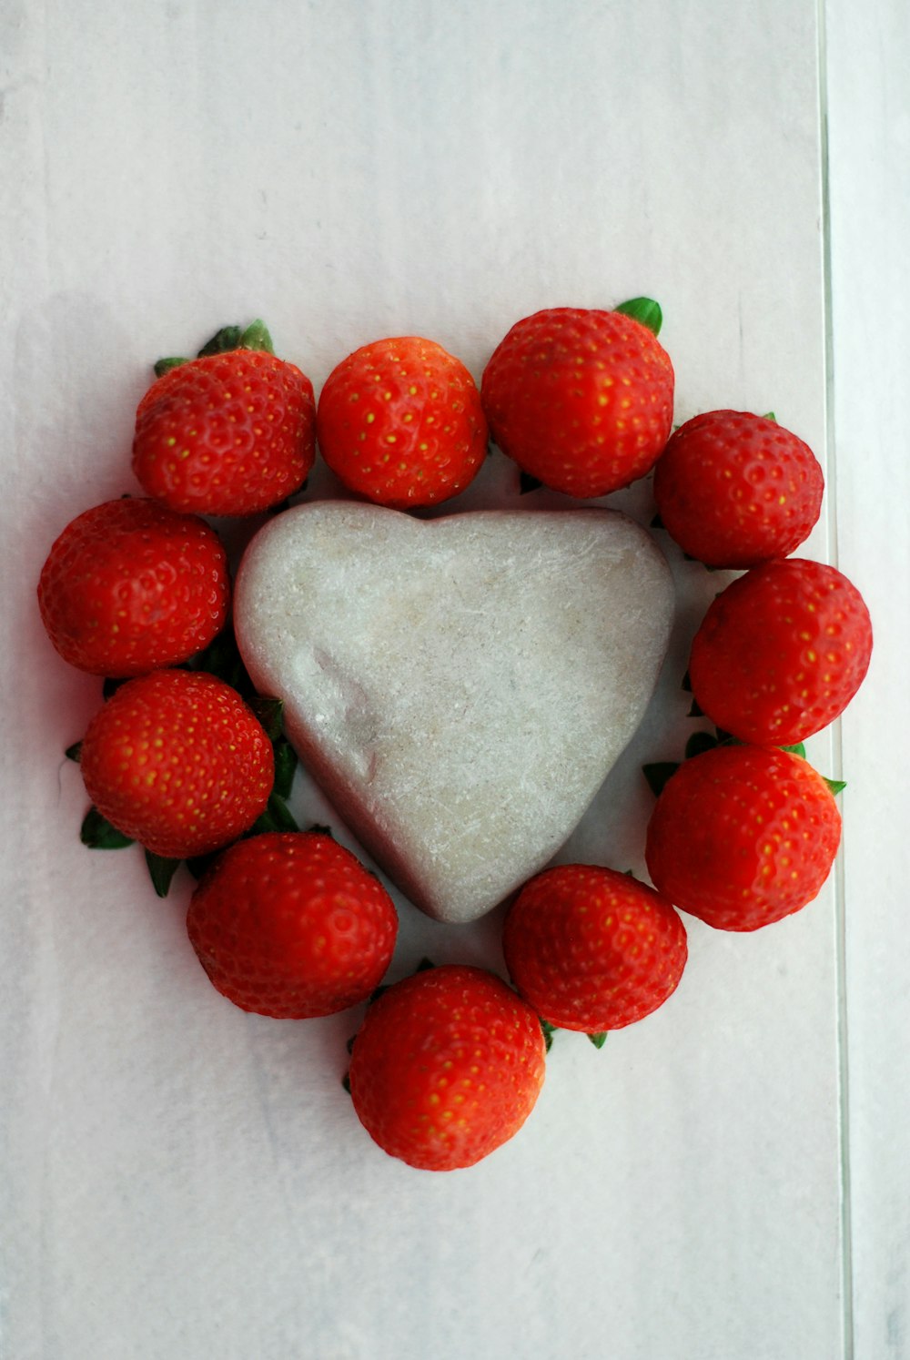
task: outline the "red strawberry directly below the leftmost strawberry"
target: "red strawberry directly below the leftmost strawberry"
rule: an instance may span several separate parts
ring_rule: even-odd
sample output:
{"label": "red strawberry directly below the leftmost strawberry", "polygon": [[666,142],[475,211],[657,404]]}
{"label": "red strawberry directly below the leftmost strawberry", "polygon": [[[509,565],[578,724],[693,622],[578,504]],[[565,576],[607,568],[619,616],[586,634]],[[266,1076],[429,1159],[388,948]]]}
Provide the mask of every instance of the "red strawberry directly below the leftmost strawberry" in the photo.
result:
{"label": "red strawberry directly below the leftmost strawberry", "polygon": [[174,860],[248,831],[275,777],[258,719],[203,670],[128,680],[88,724],[80,767],[94,806],[117,831]]}

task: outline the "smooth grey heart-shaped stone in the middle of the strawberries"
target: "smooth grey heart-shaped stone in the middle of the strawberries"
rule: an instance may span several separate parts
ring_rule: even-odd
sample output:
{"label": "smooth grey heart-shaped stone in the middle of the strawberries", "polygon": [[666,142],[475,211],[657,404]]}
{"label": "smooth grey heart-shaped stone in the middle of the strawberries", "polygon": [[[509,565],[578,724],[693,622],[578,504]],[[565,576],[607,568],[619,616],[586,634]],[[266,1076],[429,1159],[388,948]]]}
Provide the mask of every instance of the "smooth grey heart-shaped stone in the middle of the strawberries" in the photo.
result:
{"label": "smooth grey heart-shaped stone in the middle of the strawberries", "polygon": [[611,510],[273,518],[234,622],[303,764],[418,907],[472,921],[541,869],[641,722],[669,568]]}

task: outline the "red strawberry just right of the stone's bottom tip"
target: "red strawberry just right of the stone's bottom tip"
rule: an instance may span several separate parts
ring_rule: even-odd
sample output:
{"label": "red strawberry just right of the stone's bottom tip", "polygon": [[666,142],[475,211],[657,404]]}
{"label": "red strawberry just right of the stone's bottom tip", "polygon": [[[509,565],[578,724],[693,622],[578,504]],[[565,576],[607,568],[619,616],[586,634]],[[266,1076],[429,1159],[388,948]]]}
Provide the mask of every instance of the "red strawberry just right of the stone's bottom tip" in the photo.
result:
{"label": "red strawberry just right of the stone's bottom tip", "polygon": [[686,928],[671,903],[615,869],[567,864],[521,889],[502,947],[528,1005],[562,1030],[620,1030],[676,990]]}

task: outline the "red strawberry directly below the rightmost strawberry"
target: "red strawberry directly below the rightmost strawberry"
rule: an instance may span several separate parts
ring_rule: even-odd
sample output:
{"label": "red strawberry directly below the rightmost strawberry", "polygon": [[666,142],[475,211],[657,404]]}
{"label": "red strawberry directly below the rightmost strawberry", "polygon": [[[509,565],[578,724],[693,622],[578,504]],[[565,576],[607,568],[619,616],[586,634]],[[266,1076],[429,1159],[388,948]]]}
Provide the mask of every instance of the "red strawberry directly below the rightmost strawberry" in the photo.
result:
{"label": "red strawberry directly below the rightmost strawberry", "polygon": [[683,762],[660,794],[645,857],[658,892],[718,930],[758,930],[818,896],[841,813],[800,756],[718,745]]}

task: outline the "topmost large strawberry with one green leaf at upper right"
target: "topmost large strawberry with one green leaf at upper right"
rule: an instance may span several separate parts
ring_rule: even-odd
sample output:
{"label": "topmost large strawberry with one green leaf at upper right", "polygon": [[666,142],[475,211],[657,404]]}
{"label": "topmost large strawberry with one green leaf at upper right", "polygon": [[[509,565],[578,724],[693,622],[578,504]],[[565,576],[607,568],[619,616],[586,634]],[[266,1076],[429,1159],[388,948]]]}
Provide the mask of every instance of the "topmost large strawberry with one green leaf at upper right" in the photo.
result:
{"label": "topmost large strawberry with one green leaf at upper right", "polygon": [[624,311],[550,307],[509,330],[480,396],[492,438],[524,472],[603,496],[642,477],[667,443],[673,366]]}

